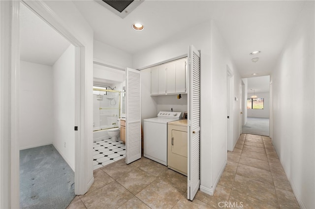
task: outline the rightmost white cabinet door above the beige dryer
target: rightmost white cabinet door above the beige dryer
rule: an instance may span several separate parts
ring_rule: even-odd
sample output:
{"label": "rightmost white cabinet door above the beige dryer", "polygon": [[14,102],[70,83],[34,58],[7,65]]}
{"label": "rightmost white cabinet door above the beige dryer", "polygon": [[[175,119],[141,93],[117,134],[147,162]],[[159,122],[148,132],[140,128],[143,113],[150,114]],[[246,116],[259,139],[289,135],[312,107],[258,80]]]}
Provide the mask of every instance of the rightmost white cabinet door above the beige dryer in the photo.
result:
{"label": "rightmost white cabinet door above the beige dryer", "polygon": [[[176,93],[186,93],[186,60],[175,63],[176,78],[175,89]],[[168,89],[167,89],[168,92]]]}

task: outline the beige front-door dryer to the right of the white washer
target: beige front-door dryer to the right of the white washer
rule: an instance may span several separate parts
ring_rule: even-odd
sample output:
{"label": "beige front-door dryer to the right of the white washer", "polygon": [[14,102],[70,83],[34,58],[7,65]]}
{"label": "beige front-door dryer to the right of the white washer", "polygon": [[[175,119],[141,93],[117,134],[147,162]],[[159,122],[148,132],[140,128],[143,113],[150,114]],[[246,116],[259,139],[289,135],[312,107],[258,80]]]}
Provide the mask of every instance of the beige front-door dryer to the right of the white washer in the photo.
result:
{"label": "beige front-door dryer to the right of the white washer", "polygon": [[187,120],[167,125],[167,167],[187,176]]}

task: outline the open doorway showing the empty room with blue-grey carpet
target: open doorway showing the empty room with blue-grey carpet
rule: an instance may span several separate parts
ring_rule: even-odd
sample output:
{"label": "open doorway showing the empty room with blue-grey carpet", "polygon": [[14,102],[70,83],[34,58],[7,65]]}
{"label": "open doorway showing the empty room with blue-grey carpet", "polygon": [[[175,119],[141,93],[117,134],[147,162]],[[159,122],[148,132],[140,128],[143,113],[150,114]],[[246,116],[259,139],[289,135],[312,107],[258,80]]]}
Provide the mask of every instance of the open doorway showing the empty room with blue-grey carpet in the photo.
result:
{"label": "open doorway showing the empty room with blue-grey carpet", "polygon": [[75,47],[23,3],[19,83],[20,206],[66,207],[75,196]]}

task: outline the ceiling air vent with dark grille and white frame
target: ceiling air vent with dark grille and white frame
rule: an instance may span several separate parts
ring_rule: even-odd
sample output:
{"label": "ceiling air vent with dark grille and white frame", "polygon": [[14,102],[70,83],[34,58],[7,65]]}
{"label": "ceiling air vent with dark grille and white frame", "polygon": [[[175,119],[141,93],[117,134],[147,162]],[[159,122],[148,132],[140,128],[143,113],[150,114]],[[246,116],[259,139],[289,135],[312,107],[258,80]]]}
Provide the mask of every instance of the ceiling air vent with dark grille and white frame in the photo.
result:
{"label": "ceiling air vent with dark grille and white frame", "polygon": [[95,0],[100,5],[109,9],[121,18],[125,18],[133,11],[143,0]]}

